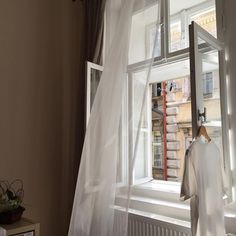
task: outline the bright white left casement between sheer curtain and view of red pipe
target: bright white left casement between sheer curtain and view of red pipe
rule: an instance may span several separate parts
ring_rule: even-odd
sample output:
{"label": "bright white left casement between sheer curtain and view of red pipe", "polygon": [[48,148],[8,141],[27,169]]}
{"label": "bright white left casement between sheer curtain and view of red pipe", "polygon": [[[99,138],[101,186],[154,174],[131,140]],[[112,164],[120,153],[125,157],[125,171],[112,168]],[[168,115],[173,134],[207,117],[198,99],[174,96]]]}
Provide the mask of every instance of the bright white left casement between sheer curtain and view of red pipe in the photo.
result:
{"label": "bright white left casement between sheer curtain and view of red pipe", "polygon": [[[128,83],[128,113],[129,113],[129,156],[136,156],[133,184],[146,182],[152,178],[151,173],[151,106],[150,91],[145,96],[147,71],[141,70],[129,73]],[[144,112],[140,120],[141,107]],[[140,125],[141,122],[141,125]],[[138,138],[137,138],[138,137]],[[138,143],[136,143],[138,140]]]}

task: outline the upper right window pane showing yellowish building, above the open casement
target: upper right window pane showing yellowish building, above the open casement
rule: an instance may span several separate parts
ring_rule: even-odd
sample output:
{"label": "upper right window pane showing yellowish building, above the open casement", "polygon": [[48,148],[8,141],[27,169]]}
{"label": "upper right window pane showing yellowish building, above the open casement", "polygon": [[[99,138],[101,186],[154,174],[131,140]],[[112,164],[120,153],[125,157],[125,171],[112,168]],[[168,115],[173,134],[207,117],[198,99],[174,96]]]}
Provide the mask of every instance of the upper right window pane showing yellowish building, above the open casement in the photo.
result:
{"label": "upper right window pane showing yellowish building, above the open casement", "polygon": [[216,36],[216,12],[212,0],[170,0],[169,14],[169,52],[189,47],[188,25],[191,21]]}

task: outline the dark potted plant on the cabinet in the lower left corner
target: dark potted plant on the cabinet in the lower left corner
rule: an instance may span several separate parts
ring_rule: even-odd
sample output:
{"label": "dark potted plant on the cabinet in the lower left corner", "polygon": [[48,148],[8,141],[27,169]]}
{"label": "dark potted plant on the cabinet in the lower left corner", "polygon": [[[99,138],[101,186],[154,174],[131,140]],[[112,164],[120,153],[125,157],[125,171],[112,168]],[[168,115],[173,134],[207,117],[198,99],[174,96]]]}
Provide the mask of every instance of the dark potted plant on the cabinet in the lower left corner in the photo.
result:
{"label": "dark potted plant on the cabinet in the lower left corner", "polygon": [[0,224],[12,224],[21,218],[25,210],[21,206],[23,196],[21,180],[0,181]]}

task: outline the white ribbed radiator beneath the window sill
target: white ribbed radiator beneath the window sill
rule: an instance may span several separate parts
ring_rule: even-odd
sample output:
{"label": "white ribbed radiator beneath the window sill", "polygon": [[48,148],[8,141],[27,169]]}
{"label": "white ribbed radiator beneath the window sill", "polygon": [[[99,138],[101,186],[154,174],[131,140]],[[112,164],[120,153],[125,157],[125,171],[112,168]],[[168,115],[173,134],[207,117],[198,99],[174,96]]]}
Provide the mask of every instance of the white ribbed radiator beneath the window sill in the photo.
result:
{"label": "white ribbed radiator beneath the window sill", "polygon": [[190,228],[175,223],[129,214],[129,236],[190,236]]}

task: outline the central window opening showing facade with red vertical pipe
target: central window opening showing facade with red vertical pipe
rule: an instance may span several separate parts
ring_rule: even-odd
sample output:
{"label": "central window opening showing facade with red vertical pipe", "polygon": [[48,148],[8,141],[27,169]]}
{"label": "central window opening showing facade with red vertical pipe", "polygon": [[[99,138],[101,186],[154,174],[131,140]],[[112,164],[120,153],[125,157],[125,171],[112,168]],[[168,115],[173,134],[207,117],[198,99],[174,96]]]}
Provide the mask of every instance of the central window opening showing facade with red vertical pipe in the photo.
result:
{"label": "central window opening showing facade with red vertical pipe", "polygon": [[153,178],[181,181],[192,140],[189,60],[153,69],[151,81]]}

